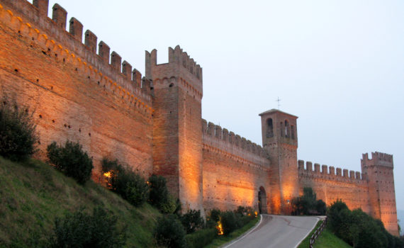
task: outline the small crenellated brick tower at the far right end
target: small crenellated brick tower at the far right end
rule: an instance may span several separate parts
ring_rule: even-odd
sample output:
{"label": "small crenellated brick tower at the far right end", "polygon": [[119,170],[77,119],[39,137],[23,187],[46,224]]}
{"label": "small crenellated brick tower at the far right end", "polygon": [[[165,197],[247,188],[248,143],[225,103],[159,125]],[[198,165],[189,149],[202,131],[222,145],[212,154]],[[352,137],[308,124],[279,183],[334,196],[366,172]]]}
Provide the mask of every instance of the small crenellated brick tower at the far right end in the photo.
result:
{"label": "small crenellated brick tower at the far right end", "polygon": [[369,187],[371,215],[380,219],[388,232],[398,236],[393,155],[372,152],[369,159],[367,153],[362,154],[361,169]]}

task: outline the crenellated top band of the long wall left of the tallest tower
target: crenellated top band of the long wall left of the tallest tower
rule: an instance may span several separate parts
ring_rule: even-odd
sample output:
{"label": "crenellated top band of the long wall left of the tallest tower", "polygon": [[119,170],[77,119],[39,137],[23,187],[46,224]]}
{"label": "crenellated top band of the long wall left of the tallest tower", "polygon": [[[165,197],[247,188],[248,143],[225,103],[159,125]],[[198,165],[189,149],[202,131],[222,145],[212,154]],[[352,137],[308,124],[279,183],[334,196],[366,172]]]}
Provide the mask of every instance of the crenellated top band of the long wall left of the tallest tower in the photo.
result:
{"label": "crenellated top band of the long wall left of the tallest tower", "polygon": [[[77,18],[70,18],[67,28],[67,11],[59,4],[52,7],[52,19],[47,17],[48,0],[2,0],[0,20],[7,23],[16,32],[30,38],[43,48],[43,52],[73,63],[82,74],[104,83],[114,92],[119,92],[129,101],[139,102],[141,106],[151,108],[150,89],[142,86],[141,74],[132,69],[128,62],[121,62],[121,57],[112,52],[106,43],[99,43],[97,54],[97,36],[86,30],[83,40],[83,25]],[[11,11],[12,10],[12,11]],[[111,64],[109,64],[111,57]],[[146,85],[146,84],[145,84]]]}

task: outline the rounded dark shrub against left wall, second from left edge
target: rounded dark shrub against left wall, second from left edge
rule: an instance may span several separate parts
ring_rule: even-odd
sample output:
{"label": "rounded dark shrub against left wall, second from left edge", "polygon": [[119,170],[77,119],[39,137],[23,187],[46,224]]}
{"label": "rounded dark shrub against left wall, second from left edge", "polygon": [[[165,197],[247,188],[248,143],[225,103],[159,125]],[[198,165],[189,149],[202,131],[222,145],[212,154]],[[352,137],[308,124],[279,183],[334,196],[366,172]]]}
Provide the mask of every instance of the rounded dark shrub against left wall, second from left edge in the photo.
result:
{"label": "rounded dark shrub against left wall, second from left edge", "polygon": [[56,169],[76,179],[79,184],[84,184],[90,179],[93,162],[78,142],[67,140],[64,147],[52,142],[47,146],[47,158]]}

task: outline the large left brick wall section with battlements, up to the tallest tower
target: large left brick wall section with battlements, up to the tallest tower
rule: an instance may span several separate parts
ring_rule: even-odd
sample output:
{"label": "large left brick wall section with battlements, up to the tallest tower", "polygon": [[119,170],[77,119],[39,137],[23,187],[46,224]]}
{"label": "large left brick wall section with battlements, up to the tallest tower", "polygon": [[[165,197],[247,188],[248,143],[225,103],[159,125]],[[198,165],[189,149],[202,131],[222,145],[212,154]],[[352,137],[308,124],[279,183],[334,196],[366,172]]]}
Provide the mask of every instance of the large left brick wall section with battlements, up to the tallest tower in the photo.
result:
{"label": "large left brick wall section with battlements, up to the tallest tower", "polygon": [[[94,158],[152,172],[152,96],[141,74],[61,6],[0,1],[0,92],[35,111],[40,157],[52,141],[79,141]],[[99,175],[94,175],[97,179]]]}

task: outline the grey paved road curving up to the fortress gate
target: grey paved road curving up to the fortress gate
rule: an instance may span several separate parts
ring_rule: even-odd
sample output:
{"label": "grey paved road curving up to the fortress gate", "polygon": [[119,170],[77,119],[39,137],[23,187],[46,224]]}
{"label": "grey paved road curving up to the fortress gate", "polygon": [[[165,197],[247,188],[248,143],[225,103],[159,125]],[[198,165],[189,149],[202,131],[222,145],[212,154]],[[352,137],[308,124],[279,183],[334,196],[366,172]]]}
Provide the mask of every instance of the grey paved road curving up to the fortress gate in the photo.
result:
{"label": "grey paved road curving up to the fortress gate", "polygon": [[262,222],[252,232],[223,248],[294,248],[317,221],[312,216],[262,215]]}

